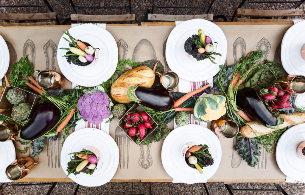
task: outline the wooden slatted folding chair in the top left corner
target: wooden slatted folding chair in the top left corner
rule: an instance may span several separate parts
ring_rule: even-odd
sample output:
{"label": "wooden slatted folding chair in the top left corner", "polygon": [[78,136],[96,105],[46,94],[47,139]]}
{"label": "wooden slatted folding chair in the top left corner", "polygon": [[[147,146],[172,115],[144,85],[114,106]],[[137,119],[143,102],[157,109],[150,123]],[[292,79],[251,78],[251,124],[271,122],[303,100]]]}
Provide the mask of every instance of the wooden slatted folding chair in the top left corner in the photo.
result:
{"label": "wooden slatted folding chair in the top left corner", "polygon": [[[59,20],[53,8],[47,0],[44,0],[45,5],[0,5],[0,7],[44,7],[47,13],[0,13],[0,26],[37,26],[37,25],[55,25],[59,24]],[[13,21],[11,21],[13,20]],[[47,20],[45,22],[37,22],[38,20]],[[56,20],[51,21],[51,20]],[[34,21],[34,22],[21,22]]]}

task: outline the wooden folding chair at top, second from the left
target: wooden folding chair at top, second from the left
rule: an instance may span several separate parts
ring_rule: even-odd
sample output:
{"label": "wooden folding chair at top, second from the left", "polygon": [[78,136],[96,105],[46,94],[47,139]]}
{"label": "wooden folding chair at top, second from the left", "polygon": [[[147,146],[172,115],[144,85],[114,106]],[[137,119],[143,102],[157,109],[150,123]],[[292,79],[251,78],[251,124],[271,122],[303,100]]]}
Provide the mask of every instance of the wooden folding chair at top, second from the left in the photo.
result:
{"label": "wooden folding chair at top, second from the left", "polygon": [[[135,14],[131,14],[131,5],[129,0],[129,6],[125,7],[101,7],[101,6],[75,6],[73,0],[69,0],[71,6],[73,7],[75,14],[71,14],[71,18],[68,18],[64,21],[66,24],[67,21],[77,21],[78,23],[82,22],[130,22],[135,21]],[[118,14],[118,15],[86,15],[81,14],[79,9],[126,9],[127,14]]]}

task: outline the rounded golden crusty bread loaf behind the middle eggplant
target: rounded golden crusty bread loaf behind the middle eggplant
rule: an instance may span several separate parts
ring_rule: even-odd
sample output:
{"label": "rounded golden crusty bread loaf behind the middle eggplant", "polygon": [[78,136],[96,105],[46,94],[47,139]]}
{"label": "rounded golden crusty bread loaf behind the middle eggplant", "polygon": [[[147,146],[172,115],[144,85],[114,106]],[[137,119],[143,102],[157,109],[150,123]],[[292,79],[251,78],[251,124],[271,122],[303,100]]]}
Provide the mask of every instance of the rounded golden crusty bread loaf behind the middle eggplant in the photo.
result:
{"label": "rounded golden crusty bread loaf behind the middle eggplant", "polygon": [[147,66],[139,66],[121,75],[111,86],[111,97],[119,103],[129,103],[127,90],[134,85],[151,87],[155,81],[155,73]]}

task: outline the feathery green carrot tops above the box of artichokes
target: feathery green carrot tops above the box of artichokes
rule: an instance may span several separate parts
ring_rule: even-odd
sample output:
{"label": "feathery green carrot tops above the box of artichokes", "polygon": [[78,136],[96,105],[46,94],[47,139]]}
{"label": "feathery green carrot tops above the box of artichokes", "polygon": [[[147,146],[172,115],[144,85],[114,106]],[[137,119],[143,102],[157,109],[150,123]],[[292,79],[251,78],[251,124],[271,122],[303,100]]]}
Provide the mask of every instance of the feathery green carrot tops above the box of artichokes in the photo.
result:
{"label": "feathery green carrot tops above the box of artichokes", "polygon": [[11,67],[12,72],[9,74],[9,83],[14,86],[27,86],[24,82],[29,82],[27,79],[34,72],[34,67],[26,57],[21,57],[20,60],[14,63]]}

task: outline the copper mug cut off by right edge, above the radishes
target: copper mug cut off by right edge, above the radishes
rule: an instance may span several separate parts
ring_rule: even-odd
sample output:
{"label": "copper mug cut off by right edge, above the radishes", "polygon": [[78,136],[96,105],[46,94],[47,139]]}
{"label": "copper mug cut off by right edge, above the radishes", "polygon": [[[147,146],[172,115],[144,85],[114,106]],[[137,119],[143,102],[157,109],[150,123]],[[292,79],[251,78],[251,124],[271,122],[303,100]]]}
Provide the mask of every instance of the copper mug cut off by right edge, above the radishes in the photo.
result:
{"label": "copper mug cut off by right edge, above the radishes", "polygon": [[[278,78],[274,83],[279,83],[285,90],[285,85],[289,86],[287,92],[290,94],[303,94],[305,92],[305,76],[303,75],[285,75]],[[285,92],[286,93],[286,92]]]}

